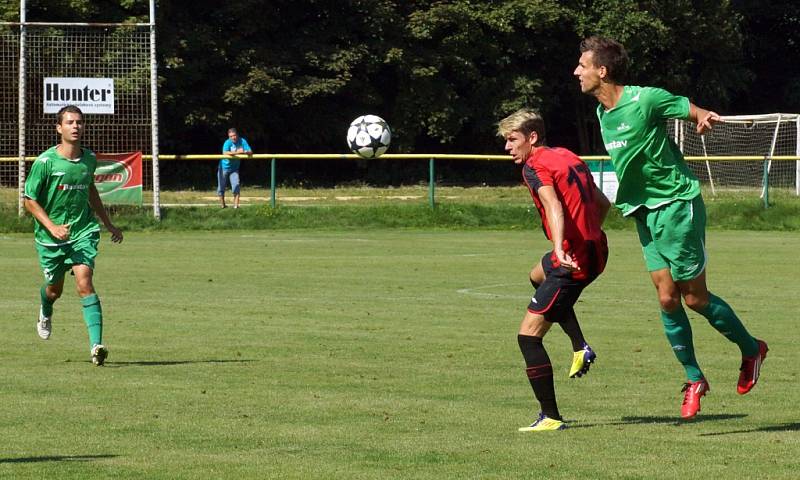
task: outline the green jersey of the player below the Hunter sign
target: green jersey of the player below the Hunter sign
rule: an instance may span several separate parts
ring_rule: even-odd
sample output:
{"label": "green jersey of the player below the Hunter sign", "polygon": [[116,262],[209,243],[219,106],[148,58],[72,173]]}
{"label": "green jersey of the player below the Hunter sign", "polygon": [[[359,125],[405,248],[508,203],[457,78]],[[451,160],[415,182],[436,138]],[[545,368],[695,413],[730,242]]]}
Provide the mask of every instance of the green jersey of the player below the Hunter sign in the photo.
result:
{"label": "green jersey of the player below the Hunter sign", "polygon": [[36,200],[56,225],[69,224],[69,240],[53,238],[38,221],[36,243],[45,246],[66,245],[100,231],[89,204],[89,187],[94,183],[97,157],[84,148],[77,160],[61,156],[56,147],[39,155],[25,180],[25,196]]}

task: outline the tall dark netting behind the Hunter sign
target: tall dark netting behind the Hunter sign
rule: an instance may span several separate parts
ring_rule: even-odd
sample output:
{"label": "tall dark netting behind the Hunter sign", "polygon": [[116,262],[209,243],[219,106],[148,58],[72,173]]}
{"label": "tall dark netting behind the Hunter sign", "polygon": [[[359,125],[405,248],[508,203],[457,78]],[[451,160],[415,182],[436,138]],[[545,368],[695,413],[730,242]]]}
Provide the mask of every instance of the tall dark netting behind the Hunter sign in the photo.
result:
{"label": "tall dark netting behind the Hunter sign", "polygon": [[[0,24],[0,157],[5,160],[0,162],[0,186],[19,186],[24,180],[19,163],[9,160],[20,155],[20,136],[26,157],[35,157],[59,140],[55,115],[44,112],[48,77],[113,79],[113,114],[84,112],[84,145],[97,153],[151,154],[150,42],[147,24],[28,23],[24,36],[19,23]],[[20,91],[24,125],[19,120]],[[152,190],[152,165],[142,163],[143,188]]]}

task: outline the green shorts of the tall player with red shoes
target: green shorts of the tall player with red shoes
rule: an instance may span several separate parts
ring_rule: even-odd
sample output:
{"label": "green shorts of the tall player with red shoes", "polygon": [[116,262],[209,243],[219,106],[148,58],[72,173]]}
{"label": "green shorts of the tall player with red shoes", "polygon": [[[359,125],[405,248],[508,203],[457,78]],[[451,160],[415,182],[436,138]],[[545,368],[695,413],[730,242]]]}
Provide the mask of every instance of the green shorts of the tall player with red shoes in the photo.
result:
{"label": "green shorts of the tall player with red shoes", "polygon": [[706,268],[706,207],[703,197],[675,200],[633,215],[648,272],[669,268],[676,282],[697,278]]}

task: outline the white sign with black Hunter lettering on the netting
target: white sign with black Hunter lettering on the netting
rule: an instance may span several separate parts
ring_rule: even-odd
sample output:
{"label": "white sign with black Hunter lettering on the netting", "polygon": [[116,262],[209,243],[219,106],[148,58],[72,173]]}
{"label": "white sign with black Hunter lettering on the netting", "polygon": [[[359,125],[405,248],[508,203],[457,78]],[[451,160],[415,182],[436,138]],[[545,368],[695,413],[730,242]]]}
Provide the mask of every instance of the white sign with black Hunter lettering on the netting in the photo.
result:
{"label": "white sign with black Hunter lettering on the netting", "polygon": [[83,113],[114,113],[113,78],[45,77],[44,113],[75,105]]}

